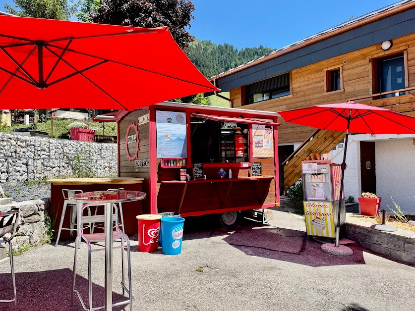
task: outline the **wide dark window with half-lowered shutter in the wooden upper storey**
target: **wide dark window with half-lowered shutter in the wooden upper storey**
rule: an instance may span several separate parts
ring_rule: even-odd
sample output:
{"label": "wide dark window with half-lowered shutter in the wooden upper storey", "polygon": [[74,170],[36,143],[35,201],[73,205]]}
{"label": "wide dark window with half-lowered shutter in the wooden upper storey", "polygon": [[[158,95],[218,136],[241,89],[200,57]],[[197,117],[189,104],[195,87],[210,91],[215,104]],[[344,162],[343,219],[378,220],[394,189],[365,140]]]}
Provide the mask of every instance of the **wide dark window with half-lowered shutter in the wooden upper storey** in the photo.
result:
{"label": "wide dark window with half-lowered shutter in the wooden upper storey", "polygon": [[290,95],[290,73],[249,84],[245,87],[246,104]]}

